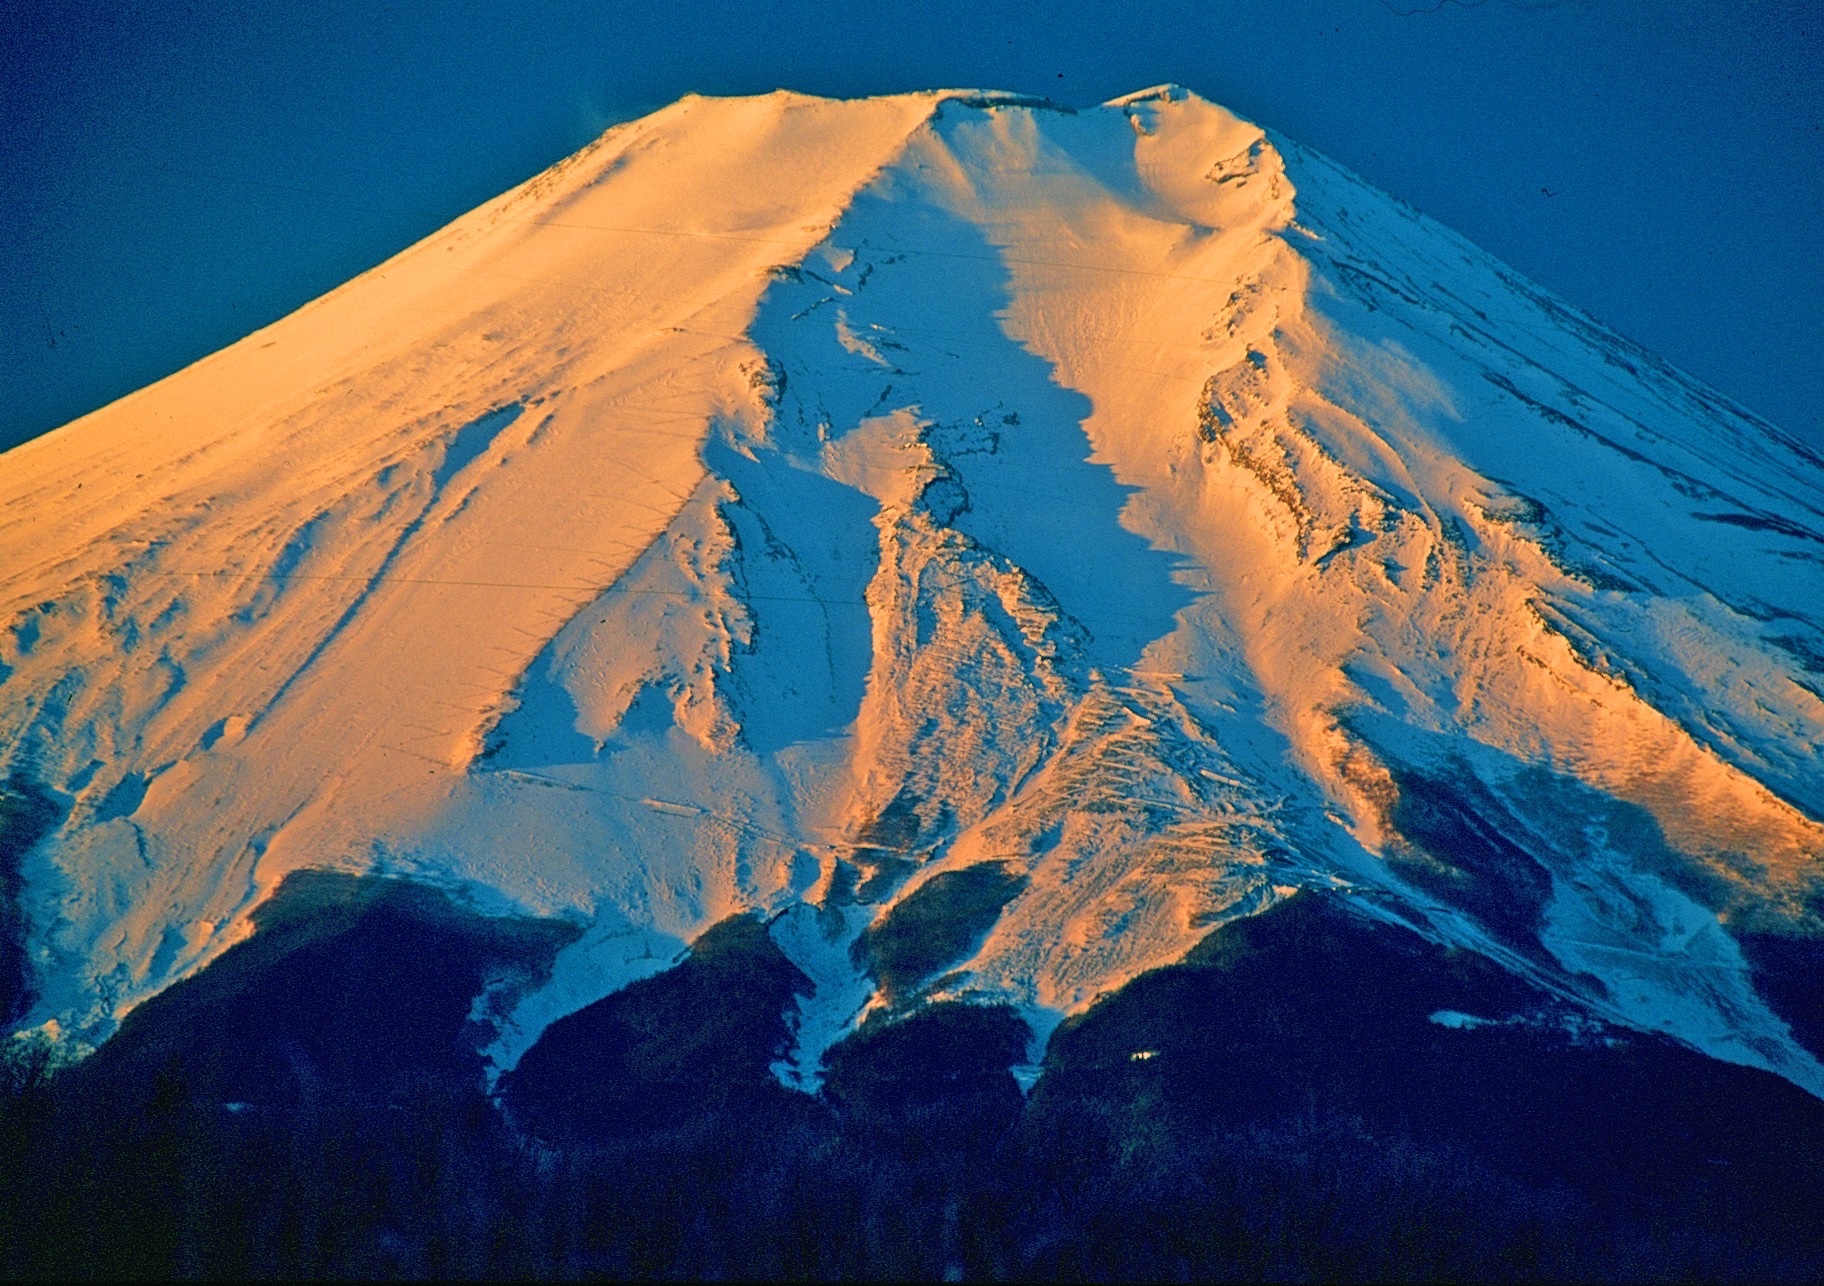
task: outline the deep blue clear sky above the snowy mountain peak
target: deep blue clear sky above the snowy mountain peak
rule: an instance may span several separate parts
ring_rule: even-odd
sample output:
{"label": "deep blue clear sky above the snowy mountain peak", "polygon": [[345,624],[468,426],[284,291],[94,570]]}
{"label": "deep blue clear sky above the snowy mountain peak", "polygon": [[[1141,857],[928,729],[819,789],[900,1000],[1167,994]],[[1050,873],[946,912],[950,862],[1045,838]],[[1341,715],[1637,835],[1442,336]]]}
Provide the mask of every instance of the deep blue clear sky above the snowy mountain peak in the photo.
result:
{"label": "deep blue clear sky above the snowy mountain peak", "polygon": [[1819,0],[11,0],[0,447],[691,89],[1160,80],[1824,447]]}

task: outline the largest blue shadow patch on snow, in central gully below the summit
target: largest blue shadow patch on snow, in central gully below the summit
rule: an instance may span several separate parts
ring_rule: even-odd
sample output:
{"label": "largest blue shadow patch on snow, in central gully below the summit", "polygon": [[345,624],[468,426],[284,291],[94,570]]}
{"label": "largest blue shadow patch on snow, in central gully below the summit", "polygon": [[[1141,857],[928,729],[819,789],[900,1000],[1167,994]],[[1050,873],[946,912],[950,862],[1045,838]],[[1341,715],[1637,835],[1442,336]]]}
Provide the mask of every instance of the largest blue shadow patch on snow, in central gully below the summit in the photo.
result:
{"label": "largest blue shadow patch on snow, in central gully below the summit", "polygon": [[[1138,662],[1191,595],[1173,584],[1171,555],[1120,525],[1131,489],[1089,462],[1089,398],[1003,330],[996,248],[961,219],[879,192],[855,199],[832,241],[855,259],[835,275],[852,294],[826,310],[888,365],[843,350],[835,316],[826,363],[866,372],[857,383],[881,390],[868,412],[910,409],[930,425],[959,483],[948,525],[1034,576],[1089,631],[1096,664]],[[766,343],[764,317],[755,337]]]}

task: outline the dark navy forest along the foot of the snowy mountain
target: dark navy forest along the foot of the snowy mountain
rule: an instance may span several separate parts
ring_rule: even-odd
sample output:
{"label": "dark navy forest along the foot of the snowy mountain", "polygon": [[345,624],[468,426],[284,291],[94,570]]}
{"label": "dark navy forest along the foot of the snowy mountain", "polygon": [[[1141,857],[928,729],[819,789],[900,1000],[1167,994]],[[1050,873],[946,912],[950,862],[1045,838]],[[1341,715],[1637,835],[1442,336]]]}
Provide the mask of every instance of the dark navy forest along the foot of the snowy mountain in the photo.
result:
{"label": "dark navy forest along the foot of the snowy mountain", "polygon": [[[88,1062],[15,1051],[13,1277],[1800,1279],[1824,1104],[1576,1023],[1301,896],[1062,1029],[934,1007],[768,1063],[751,919],[562,1023],[491,1100],[471,1003],[565,939],[294,879]],[[1518,1022],[1454,1031],[1441,1009]],[[1138,1056],[1136,1056],[1138,1054]]]}

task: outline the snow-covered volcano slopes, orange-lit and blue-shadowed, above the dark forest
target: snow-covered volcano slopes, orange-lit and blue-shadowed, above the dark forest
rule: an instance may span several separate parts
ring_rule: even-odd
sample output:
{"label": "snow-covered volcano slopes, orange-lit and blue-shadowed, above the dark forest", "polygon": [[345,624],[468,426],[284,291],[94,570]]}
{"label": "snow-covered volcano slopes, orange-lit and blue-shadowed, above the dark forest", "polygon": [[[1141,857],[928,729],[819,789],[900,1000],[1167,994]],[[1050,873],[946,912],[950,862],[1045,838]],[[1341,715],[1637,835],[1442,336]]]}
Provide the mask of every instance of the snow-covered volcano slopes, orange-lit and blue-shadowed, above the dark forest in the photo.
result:
{"label": "snow-covered volcano slopes, orange-lit and blue-shadowed, above the dark forest", "polygon": [[305,866],[576,921],[498,1069],[761,910],[806,1089],[1328,887],[1824,1094],[1736,938],[1824,930],[1824,465],[1180,89],[686,99],[0,524],[77,1042]]}

